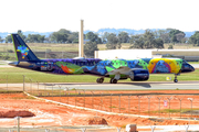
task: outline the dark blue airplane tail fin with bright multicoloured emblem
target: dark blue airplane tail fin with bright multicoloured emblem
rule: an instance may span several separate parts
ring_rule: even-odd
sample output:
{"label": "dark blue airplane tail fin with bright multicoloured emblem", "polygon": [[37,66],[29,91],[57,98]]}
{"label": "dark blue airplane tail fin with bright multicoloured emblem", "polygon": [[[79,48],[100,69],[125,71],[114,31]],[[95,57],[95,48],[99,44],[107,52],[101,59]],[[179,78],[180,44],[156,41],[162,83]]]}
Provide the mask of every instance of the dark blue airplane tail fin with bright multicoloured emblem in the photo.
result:
{"label": "dark blue airplane tail fin with bright multicoloured emblem", "polygon": [[11,34],[18,62],[39,61],[19,34]]}

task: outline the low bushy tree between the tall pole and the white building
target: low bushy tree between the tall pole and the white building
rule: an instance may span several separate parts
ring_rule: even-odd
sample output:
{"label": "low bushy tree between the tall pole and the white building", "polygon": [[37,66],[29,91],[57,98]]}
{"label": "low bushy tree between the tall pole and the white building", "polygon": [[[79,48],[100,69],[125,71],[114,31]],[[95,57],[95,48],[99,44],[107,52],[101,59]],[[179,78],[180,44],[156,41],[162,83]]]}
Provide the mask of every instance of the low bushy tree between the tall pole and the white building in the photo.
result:
{"label": "low bushy tree between the tall pole and the white building", "polygon": [[94,51],[98,51],[96,42],[87,42],[84,45],[84,53],[86,56],[94,56]]}

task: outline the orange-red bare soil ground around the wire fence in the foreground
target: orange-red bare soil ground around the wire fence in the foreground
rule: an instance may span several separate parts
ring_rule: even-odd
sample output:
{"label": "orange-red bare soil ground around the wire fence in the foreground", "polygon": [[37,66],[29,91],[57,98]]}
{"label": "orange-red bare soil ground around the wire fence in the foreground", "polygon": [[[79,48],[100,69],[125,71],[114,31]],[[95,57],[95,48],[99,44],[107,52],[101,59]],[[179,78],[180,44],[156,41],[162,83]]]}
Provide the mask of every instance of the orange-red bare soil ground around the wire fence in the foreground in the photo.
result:
{"label": "orange-red bare soil ground around the wire fence in the foreground", "polygon": [[[112,92],[121,92],[121,91],[112,91]],[[134,91],[125,91],[125,92],[134,92]],[[146,92],[146,91],[135,91],[135,92]],[[147,91],[148,92],[148,91]],[[171,92],[169,90],[166,91],[150,91],[150,92]],[[174,92],[174,91],[172,91]],[[176,90],[175,92],[190,92],[196,94],[199,92],[198,90]],[[128,106],[128,98],[129,97],[121,97],[121,113],[129,113],[133,114],[145,114],[145,116],[156,116],[158,117],[158,99],[157,97],[161,97],[160,101],[160,110],[168,109],[164,107],[164,100],[168,98],[168,96],[151,96],[150,98],[150,113],[148,113],[148,98],[142,97],[140,98],[140,111],[138,109],[138,97],[132,96],[130,97],[130,107]],[[193,98],[192,108],[199,108],[199,96],[169,96],[172,98],[170,101],[171,109],[179,109],[179,99],[182,99],[182,108],[190,108],[190,101],[187,98]],[[118,96],[112,97],[112,112],[119,112],[118,110]],[[53,99],[61,102],[67,102],[67,97],[49,97],[48,99]],[[92,103],[92,97],[78,97],[78,106],[84,107],[84,99],[85,99],[85,107],[93,109],[101,109],[102,97],[94,97],[94,103]],[[72,105],[75,101],[75,97],[70,97],[69,102]],[[102,110],[111,111],[109,97],[103,97],[103,106]],[[115,107],[113,107],[115,106]],[[130,108],[130,109],[128,109]],[[114,114],[104,114],[100,112],[93,112],[87,110],[80,110],[69,107],[63,107],[36,99],[31,99],[30,97],[25,96],[24,94],[0,94],[0,111],[1,113],[10,112],[11,111],[19,111],[21,114],[24,112],[32,113],[33,117],[25,117],[22,118],[20,121],[21,125],[88,125],[88,124],[107,124],[113,127],[125,127],[126,124],[137,124],[137,125],[181,125],[181,124],[199,124],[199,121],[180,121],[180,120],[167,120],[167,119],[147,119],[140,117],[127,117],[127,116],[114,116]],[[161,113],[160,117],[168,118],[168,113]],[[177,114],[170,114],[172,118],[177,117]],[[179,113],[178,113],[179,116]],[[184,118],[190,117],[190,113],[184,113]],[[198,118],[198,116],[195,116]],[[15,125],[15,121],[13,117],[9,118],[0,118],[0,127],[9,127]]]}

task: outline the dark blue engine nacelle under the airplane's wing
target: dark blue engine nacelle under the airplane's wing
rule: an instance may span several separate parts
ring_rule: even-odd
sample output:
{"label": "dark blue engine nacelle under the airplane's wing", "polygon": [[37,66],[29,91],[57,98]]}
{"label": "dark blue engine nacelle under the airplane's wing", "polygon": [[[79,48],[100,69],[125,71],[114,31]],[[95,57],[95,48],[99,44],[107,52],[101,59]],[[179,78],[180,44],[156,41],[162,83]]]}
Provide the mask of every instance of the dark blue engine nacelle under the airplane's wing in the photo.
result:
{"label": "dark blue engine nacelle under the airplane's wing", "polygon": [[146,69],[133,69],[128,76],[132,81],[142,81],[148,80],[149,73]]}

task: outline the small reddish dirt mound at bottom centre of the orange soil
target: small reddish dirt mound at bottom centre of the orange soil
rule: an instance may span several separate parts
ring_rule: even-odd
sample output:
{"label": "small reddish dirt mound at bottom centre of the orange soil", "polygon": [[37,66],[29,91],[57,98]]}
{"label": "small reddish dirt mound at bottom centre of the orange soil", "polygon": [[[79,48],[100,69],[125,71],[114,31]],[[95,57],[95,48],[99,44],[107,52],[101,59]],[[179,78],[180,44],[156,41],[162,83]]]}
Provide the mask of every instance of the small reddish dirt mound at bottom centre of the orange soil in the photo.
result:
{"label": "small reddish dirt mound at bottom centre of the orange soil", "polygon": [[108,125],[106,120],[104,118],[101,118],[101,117],[88,117],[87,118],[87,123],[88,124],[105,124],[105,125]]}

